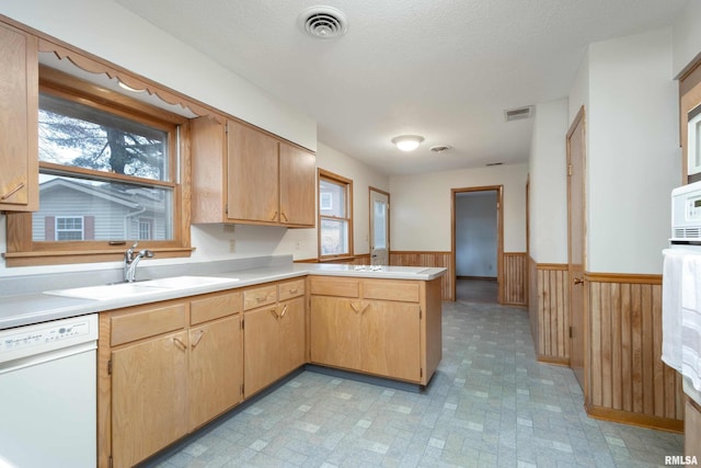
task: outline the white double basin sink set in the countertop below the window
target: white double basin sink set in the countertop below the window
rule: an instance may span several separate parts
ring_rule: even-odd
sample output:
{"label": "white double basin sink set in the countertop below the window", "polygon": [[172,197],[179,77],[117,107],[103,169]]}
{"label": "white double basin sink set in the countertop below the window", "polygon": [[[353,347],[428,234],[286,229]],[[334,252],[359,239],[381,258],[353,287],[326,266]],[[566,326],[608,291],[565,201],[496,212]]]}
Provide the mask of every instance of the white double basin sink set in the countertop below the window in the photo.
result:
{"label": "white double basin sink set in the countertop below the window", "polygon": [[187,290],[223,283],[235,283],[238,278],[216,276],[172,276],[160,279],[147,279],[135,283],[115,283],[97,286],[74,287],[70,289],[47,290],[45,294],[79,299],[110,300],[145,296],[170,290]]}

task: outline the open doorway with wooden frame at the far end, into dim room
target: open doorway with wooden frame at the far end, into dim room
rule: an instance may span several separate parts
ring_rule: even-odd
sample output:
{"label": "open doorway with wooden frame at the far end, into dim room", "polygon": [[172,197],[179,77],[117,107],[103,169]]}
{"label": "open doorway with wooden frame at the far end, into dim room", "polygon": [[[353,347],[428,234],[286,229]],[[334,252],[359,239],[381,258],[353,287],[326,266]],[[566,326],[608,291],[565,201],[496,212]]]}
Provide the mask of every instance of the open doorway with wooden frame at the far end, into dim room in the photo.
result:
{"label": "open doorway with wooden frame at the far end, into dim room", "polygon": [[452,190],[453,300],[502,303],[502,185]]}

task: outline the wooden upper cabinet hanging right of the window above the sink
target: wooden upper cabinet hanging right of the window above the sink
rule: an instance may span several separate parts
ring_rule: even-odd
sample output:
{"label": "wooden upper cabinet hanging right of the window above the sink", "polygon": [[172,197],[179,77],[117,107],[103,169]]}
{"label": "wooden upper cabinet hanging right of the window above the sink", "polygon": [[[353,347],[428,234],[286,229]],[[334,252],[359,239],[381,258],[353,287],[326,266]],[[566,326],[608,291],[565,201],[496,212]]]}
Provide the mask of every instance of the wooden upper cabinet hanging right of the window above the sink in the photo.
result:
{"label": "wooden upper cabinet hanging right of the window above the sink", "polygon": [[314,226],[312,152],[231,119],[191,128],[193,222]]}

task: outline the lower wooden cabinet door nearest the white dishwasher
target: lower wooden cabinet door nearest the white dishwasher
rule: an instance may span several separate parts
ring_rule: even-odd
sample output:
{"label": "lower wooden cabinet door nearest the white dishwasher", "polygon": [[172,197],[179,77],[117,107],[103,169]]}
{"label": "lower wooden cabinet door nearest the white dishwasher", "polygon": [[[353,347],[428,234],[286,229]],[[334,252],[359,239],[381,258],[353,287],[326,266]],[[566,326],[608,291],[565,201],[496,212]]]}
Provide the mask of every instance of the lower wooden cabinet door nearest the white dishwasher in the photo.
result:
{"label": "lower wooden cabinet door nearest the white dishwasher", "polygon": [[112,353],[112,456],[130,467],[187,433],[187,333]]}

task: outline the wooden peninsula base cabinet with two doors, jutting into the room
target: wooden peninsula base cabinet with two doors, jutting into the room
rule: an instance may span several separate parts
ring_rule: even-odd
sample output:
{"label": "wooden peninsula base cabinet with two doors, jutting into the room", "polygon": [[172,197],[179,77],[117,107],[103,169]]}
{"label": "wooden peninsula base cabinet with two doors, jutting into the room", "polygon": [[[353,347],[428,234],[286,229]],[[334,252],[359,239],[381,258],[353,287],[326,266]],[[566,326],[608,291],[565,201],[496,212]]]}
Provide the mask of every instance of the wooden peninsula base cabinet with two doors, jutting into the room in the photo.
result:
{"label": "wooden peninsula base cabinet with two doors, jutting into the room", "polygon": [[310,277],[314,364],[426,385],[441,356],[440,283]]}

